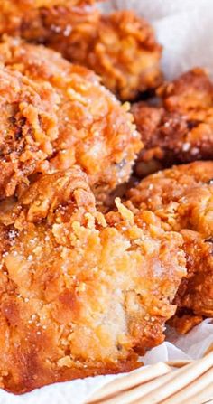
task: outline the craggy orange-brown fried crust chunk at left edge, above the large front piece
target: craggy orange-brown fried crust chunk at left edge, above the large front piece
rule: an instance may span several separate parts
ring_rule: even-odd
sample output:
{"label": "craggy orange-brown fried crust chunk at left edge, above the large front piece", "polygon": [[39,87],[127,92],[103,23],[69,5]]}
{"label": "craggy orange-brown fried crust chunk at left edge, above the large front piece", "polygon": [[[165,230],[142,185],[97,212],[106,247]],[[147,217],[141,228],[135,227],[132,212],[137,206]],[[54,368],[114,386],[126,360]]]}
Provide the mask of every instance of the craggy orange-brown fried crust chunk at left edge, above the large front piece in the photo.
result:
{"label": "craggy orange-brown fried crust chunk at left edge, above the large front piece", "polygon": [[58,96],[49,83],[34,82],[0,67],[0,198],[45,171],[58,136]]}

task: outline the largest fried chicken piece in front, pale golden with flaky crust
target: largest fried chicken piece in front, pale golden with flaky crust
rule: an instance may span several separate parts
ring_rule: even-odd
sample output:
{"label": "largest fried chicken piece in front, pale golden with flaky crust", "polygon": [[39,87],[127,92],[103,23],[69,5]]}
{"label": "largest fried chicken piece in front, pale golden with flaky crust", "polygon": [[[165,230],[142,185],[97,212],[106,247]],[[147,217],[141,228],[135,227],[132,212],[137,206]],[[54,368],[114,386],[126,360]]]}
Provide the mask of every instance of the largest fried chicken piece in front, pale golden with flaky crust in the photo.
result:
{"label": "largest fried chicken piece in front, pale golden with flaky crust", "polygon": [[162,343],[182,237],[151,211],[103,216],[77,166],[0,209],[0,385],[15,393],[137,366]]}

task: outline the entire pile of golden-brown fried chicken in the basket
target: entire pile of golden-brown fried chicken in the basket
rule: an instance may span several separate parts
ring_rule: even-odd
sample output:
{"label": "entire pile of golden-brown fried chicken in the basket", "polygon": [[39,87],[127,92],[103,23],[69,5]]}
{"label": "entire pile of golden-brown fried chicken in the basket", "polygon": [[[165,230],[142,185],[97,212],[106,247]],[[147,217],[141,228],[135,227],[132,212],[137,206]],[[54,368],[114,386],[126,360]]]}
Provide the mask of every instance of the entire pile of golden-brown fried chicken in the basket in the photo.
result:
{"label": "entire pile of golden-brown fried chicken in the basket", "polygon": [[16,394],[130,371],[166,322],[213,316],[213,84],[163,82],[150,24],[93,3],[0,3],[0,387]]}

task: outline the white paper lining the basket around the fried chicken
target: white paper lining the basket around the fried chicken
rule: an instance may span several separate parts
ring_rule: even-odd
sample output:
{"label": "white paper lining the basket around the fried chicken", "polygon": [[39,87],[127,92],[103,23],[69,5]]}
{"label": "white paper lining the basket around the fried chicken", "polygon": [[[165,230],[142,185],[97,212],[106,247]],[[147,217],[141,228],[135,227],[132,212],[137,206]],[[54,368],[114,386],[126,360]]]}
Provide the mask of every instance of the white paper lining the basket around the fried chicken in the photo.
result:
{"label": "white paper lining the basket around the fried chicken", "polygon": [[[172,79],[194,66],[213,75],[213,0],[114,0],[106,8],[132,8],[153,23],[164,47],[162,69]],[[167,341],[147,352],[144,364],[176,359],[198,359],[213,343],[213,320],[206,320],[189,334],[168,330]],[[0,404],[83,404],[95,390],[118,376],[98,376],[56,383],[23,396],[0,390]]]}

